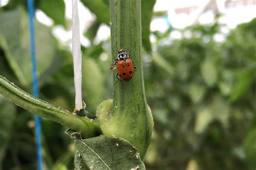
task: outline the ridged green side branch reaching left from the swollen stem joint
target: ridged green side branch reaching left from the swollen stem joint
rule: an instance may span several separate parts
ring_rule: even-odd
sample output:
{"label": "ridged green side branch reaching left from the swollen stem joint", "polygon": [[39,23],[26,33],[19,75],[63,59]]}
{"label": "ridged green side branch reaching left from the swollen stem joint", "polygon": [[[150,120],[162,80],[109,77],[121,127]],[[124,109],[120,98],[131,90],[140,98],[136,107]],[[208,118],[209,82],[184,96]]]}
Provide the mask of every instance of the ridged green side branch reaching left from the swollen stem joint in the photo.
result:
{"label": "ridged green side branch reaching left from the swollen stem joint", "polygon": [[84,138],[95,137],[100,133],[98,120],[73,115],[63,108],[47,103],[19,89],[6,78],[0,76],[0,94],[17,106],[38,114],[41,117],[68,126],[71,130],[82,133]]}

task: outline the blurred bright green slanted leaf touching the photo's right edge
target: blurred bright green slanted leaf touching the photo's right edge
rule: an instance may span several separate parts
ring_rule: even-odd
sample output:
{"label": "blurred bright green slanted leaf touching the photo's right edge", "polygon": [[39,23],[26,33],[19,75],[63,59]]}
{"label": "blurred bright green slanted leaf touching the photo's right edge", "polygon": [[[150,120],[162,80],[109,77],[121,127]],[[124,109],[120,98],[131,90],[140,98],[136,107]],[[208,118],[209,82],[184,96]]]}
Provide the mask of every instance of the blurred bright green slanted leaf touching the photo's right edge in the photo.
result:
{"label": "blurred bright green slanted leaf touching the photo's right edge", "polygon": [[256,80],[256,67],[242,71],[237,78],[237,83],[232,89],[230,97],[231,101],[236,101],[252,86],[253,81]]}

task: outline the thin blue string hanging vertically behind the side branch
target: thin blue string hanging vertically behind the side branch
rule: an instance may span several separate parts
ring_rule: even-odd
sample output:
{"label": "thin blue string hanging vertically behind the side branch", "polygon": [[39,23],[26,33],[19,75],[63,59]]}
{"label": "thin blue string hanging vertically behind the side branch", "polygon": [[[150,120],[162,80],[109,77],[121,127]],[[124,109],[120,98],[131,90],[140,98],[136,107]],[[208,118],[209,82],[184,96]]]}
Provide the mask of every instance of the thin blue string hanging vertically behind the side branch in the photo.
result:
{"label": "thin blue string hanging vertically behind the side branch", "polygon": [[[32,86],[33,95],[39,97],[38,85],[37,85],[37,66],[36,66],[36,47],[35,47],[35,29],[34,29],[34,8],[33,0],[28,0],[29,10],[29,29],[30,29],[30,49],[31,49],[31,60],[32,60]],[[37,149],[37,169],[42,170],[42,150],[41,150],[41,120],[38,115],[35,115],[36,121],[36,149]]]}

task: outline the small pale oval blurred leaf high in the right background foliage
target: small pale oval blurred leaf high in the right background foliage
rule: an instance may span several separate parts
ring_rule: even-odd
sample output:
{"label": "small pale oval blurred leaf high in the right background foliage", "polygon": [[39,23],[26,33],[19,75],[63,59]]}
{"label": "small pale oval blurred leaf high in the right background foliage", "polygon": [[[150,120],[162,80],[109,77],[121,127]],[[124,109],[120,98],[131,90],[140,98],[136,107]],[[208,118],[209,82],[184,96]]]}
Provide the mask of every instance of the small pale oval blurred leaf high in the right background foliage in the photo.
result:
{"label": "small pale oval blurred leaf high in the right background foliage", "polygon": [[208,86],[213,86],[218,77],[218,72],[217,68],[215,66],[215,63],[211,59],[206,59],[202,64],[201,64],[201,74],[205,80],[205,83]]}

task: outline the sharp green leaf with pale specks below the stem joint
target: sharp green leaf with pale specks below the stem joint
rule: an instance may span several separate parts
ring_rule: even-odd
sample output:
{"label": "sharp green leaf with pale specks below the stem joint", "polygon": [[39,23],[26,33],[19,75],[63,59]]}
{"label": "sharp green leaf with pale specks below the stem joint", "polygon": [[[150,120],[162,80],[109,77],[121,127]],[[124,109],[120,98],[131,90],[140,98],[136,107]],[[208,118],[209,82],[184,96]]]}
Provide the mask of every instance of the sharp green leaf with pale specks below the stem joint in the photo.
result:
{"label": "sharp green leaf with pale specks below the stem joint", "polygon": [[75,139],[76,169],[145,169],[138,150],[125,139],[99,135],[82,140],[79,133],[67,133]]}

